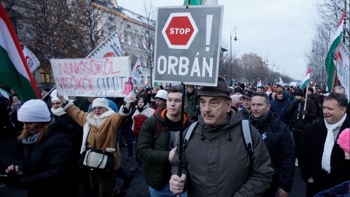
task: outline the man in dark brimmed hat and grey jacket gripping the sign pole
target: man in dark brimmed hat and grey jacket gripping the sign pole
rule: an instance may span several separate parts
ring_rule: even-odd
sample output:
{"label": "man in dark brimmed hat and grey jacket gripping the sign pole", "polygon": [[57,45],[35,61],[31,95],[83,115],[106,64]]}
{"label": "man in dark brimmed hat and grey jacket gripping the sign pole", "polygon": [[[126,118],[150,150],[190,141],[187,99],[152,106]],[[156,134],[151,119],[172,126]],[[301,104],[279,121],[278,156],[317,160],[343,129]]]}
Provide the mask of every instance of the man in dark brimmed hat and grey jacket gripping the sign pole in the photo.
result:
{"label": "man in dark brimmed hat and grey jacket gripping the sign pole", "polygon": [[216,87],[204,86],[198,93],[201,116],[186,148],[182,147],[181,177],[177,176],[179,147],[170,162],[173,193],[187,190],[189,197],[262,196],[269,188],[274,171],[265,143],[250,125],[254,154],[249,157],[241,134],[243,118],[237,108],[231,108],[229,95],[221,77]]}

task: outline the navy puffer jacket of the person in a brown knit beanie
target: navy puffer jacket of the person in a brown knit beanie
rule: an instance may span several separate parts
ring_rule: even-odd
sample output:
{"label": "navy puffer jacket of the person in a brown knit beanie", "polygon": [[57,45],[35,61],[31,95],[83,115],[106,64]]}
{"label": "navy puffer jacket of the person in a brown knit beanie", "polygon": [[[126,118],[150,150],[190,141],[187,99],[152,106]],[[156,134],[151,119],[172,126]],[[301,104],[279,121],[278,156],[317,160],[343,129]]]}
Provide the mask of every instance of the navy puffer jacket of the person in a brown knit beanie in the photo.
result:
{"label": "navy puffer jacket of the person in a brown knit beanie", "polygon": [[270,102],[270,110],[280,117],[280,121],[287,125],[289,125],[289,116],[286,111],[290,103],[292,103],[292,101],[288,100],[286,95],[283,95],[281,100],[277,99],[277,96],[275,96],[275,100]]}

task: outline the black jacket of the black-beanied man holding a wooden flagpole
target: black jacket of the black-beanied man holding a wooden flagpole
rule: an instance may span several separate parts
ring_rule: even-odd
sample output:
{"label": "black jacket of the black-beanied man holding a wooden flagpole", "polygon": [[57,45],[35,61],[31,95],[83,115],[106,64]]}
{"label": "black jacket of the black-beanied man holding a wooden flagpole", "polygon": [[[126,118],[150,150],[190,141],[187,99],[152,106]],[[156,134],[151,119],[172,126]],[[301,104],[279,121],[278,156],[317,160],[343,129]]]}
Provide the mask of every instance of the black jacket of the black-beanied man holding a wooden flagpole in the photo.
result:
{"label": "black jacket of the black-beanied man holding a wooden flagpole", "polygon": [[292,127],[292,129],[297,129],[302,131],[304,130],[304,127],[306,125],[311,124],[312,121],[317,118],[317,109],[316,109],[315,103],[310,99],[307,99],[306,111],[308,112],[308,115],[306,115],[305,119],[303,120],[303,115],[301,115],[301,113],[304,110],[304,104],[305,104],[305,99],[301,102],[300,110],[298,111],[299,102],[297,99],[295,99],[292,103],[290,103],[289,107],[287,108],[286,112],[287,112],[287,115],[289,115],[289,119],[290,119],[289,125]]}

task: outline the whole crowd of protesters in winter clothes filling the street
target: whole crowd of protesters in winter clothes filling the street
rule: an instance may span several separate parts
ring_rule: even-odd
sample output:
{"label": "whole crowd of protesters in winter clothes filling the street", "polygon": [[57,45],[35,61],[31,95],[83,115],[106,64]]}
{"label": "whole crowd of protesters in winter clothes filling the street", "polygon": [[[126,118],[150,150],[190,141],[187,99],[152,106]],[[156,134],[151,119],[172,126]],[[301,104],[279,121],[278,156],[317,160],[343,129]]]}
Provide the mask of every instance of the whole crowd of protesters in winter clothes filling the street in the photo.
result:
{"label": "whole crowd of protesters in winter clothes filling the street", "polygon": [[[0,95],[0,132],[18,137],[23,157],[0,173],[3,182],[28,196],[77,196],[79,184],[84,196],[124,196],[144,168],[151,196],[287,197],[299,167],[307,197],[349,195],[342,86],[326,94],[218,77],[216,87],[187,85],[185,95],[179,86],[135,90],[126,98],[66,97],[47,87],[42,100],[24,103],[14,91],[10,100]],[[120,143],[131,169],[121,165]]]}

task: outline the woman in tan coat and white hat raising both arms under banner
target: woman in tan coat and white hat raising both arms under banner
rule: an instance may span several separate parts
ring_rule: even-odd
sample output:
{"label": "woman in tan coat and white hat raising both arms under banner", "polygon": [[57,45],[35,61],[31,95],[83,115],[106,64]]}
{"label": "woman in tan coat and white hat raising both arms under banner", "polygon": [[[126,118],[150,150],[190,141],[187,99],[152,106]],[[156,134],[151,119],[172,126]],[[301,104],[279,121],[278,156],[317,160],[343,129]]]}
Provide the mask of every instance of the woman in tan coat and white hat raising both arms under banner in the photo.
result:
{"label": "woman in tan coat and white hat raising both arms under banner", "polygon": [[[137,101],[136,95],[132,95],[118,113],[109,108],[109,102],[104,98],[96,98],[92,101],[92,113],[85,113],[74,106],[73,102],[65,101],[63,96],[59,96],[59,99],[64,102],[62,105],[64,111],[83,127],[83,143],[80,154],[84,152],[85,145],[87,148],[92,147],[102,151],[107,150],[107,148],[116,148],[113,165],[113,172],[115,172],[120,167],[117,131],[126,124],[127,116],[131,111],[131,103]],[[92,189],[99,193],[99,196],[113,196],[115,175],[116,173],[90,172]]]}

